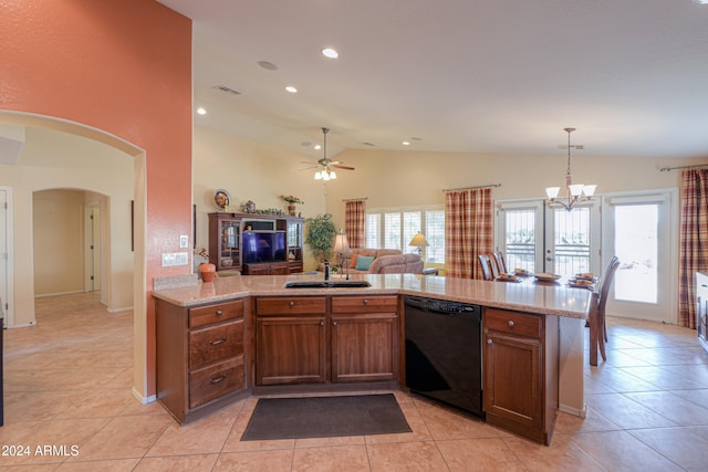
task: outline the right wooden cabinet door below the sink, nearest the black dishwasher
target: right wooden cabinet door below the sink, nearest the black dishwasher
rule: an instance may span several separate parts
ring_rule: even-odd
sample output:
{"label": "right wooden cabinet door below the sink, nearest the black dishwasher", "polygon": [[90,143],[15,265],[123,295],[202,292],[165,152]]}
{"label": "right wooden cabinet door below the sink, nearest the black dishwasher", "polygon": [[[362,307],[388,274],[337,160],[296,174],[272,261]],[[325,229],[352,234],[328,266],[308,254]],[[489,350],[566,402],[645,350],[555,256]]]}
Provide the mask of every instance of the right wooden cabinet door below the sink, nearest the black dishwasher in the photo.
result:
{"label": "right wooden cabinet door below the sink, nearest the black dishwasher", "polygon": [[398,316],[373,313],[332,316],[332,380],[398,378]]}

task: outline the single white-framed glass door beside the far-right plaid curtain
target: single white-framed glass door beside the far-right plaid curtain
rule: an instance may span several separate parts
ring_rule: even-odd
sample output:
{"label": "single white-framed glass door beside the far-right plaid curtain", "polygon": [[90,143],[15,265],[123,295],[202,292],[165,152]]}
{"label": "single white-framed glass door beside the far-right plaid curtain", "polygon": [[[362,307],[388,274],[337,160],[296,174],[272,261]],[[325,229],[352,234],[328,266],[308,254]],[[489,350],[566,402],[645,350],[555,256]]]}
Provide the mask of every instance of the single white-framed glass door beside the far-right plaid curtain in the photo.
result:
{"label": "single white-framed glass door beside the far-right plaid curtain", "polygon": [[606,196],[603,260],[620,258],[607,314],[676,322],[675,191]]}

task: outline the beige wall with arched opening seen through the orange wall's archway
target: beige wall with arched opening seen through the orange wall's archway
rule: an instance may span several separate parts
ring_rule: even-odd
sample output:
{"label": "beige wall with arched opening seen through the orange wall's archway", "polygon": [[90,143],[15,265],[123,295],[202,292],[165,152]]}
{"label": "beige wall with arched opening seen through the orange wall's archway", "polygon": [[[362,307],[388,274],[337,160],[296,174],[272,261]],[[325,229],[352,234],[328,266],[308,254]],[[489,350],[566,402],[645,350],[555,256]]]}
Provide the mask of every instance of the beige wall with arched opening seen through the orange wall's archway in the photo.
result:
{"label": "beige wall with arched opening seen through the orange wall's archway", "polygon": [[[17,165],[0,165],[0,185],[12,189],[14,248],[14,326],[34,323],[33,193],[49,189],[81,189],[101,193],[105,244],[105,303],[111,311],[133,306],[131,200],[134,159],[97,141],[58,132],[27,129]],[[93,198],[94,197],[85,197]],[[82,201],[80,204],[83,206]],[[42,209],[40,209],[42,211]],[[22,237],[18,237],[22,235]],[[83,276],[83,255],[81,256]],[[43,268],[39,268],[40,277]],[[44,283],[44,282],[42,282]]]}

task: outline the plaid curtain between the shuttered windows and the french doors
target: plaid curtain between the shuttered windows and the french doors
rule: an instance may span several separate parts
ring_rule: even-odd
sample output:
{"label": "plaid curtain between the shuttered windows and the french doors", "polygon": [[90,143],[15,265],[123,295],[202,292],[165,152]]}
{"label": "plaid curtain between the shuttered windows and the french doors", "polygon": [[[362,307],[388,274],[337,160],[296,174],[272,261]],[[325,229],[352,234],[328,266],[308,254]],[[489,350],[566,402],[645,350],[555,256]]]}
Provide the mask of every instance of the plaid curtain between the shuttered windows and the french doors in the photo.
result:
{"label": "plaid curtain between the shuttered windows and the french doors", "polygon": [[491,189],[448,191],[445,196],[445,270],[448,276],[482,279],[477,255],[492,252]]}

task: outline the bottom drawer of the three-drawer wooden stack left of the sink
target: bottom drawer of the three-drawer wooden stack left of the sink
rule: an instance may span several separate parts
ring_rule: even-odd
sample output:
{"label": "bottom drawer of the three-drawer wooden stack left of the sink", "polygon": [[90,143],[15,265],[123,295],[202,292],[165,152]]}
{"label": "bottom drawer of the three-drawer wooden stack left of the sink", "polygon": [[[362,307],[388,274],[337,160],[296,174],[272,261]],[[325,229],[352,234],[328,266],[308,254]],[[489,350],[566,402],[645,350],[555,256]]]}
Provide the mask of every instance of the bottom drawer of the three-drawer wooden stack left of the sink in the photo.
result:
{"label": "bottom drawer of the three-drawer wooden stack left of the sink", "polygon": [[243,356],[189,373],[189,408],[243,388]]}

